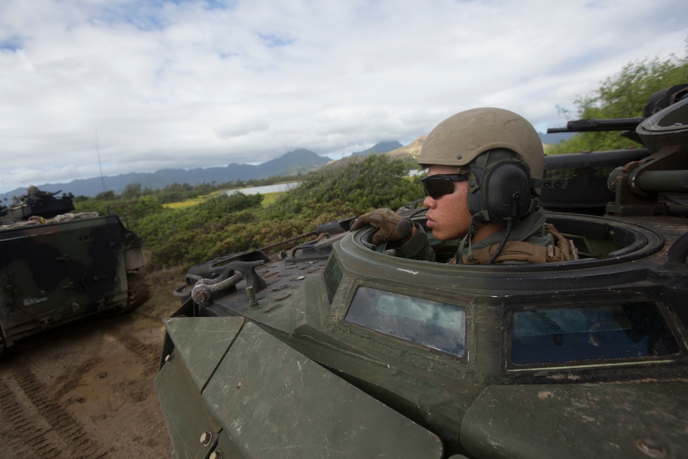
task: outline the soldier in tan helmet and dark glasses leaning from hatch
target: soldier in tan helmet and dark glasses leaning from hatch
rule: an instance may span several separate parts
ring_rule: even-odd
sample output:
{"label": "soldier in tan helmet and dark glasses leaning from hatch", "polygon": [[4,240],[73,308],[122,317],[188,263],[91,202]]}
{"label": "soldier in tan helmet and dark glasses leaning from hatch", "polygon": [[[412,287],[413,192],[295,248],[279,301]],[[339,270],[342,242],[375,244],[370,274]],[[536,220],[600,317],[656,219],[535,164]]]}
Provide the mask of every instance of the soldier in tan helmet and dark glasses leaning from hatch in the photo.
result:
{"label": "soldier in tan helmet and dark glasses leaning from hatch", "polygon": [[[450,116],[425,140],[420,167],[427,226],[441,241],[460,239],[456,264],[544,263],[577,259],[577,250],[545,222],[537,203],[544,151],[535,128],[512,111],[477,108]],[[389,209],[361,215],[352,231],[378,228],[371,242],[396,255],[434,261],[420,224]]]}

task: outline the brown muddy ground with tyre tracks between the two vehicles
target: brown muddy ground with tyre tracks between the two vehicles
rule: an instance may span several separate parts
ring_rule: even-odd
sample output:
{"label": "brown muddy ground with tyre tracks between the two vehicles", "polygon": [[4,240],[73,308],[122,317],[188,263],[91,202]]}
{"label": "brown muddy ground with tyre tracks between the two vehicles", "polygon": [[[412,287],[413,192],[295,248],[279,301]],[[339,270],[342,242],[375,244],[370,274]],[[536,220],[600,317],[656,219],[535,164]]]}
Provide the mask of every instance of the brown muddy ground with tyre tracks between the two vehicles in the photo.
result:
{"label": "brown muddy ground with tyre tracks between the two vehicles", "polygon": [[149,278],[138,310],[35,334],[0,358],[0,458],[169,458],[153,378],[184,277]]}

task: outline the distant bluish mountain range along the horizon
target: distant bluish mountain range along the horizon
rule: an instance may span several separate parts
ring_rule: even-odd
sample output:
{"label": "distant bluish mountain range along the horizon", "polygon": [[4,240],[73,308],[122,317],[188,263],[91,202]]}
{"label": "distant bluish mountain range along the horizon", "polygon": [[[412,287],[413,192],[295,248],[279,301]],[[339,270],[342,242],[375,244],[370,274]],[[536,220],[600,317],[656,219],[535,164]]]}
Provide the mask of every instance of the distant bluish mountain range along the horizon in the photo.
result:
{"label": "distant bluish mountain range along the horizon", "polygon": [[[570,138],[572,134],[539,134],[543,143],[553,144],[565,138]],[[403,146],[399,142],[380,142],[373,147],[356,151],[351,156],[370,156],[372,154],[390,153],[394,158],[402,156],[418,157],[422,142],[425,137],[420,137],[411,144]],[[225,183],[237,180],[260,180],[270,177],[288,177],[299,173],[308,173],[325,166],[332,159],[326,156],[319,156],[307,149],[296,149],[284,153],[279,158],[264,162],[263,164],[228,164],[225,167],[207,167],[197,169],[160,169],[159,171],[142,173],[132,172],[121,175],[108,175],[104,178],[94,177],[72,180],[68,183],[47,183],[37,184],[36,186],[43,191],[63,191],[72,193],[75,196],[95,196],[103,191],[103,181],[105,189],[115,193],[121,193],[127,185],[140,183],[142,188],[161,189],[173,183],[189,183],[192,185],[201,183]],[[26,194],[25,188],[17,188],[8,193],[0,194],[0,199],[12,202],[13,196]]]}

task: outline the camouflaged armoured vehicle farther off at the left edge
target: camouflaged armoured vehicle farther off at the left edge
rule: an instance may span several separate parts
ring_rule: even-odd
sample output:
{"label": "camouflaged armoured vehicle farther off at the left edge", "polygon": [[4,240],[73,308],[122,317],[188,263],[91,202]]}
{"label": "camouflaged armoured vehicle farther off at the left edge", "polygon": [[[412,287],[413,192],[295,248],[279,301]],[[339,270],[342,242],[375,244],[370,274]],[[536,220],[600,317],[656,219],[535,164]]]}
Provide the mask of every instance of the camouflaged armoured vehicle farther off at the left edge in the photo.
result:
{"label": "camouflaged armoured vehicle farther off at the left edge", "polygon": [[142,240],[117,215],[71,213],[71,194],[30,186],[0,209],[0,353],[14,341],[150,297]]}

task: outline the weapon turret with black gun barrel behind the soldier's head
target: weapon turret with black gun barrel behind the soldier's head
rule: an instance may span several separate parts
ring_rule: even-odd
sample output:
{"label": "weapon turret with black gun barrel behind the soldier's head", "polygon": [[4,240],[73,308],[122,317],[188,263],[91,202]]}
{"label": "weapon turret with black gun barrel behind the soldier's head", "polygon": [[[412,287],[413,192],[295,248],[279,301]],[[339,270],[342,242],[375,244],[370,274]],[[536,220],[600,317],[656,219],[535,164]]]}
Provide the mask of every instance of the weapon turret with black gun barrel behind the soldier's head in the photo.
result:
{"label": "weapon turret with black gun barrel behind the soldier's head", "polygon": [[[668,104],[668,105],[667,105]],[[545,178],[566,178],[566,192],[544,189],[550,210],[608,215],[688,215],[688,84],[658,91],[643,116],[570,121],[548,132],[627,130],[644,148],[545,158]]]}

